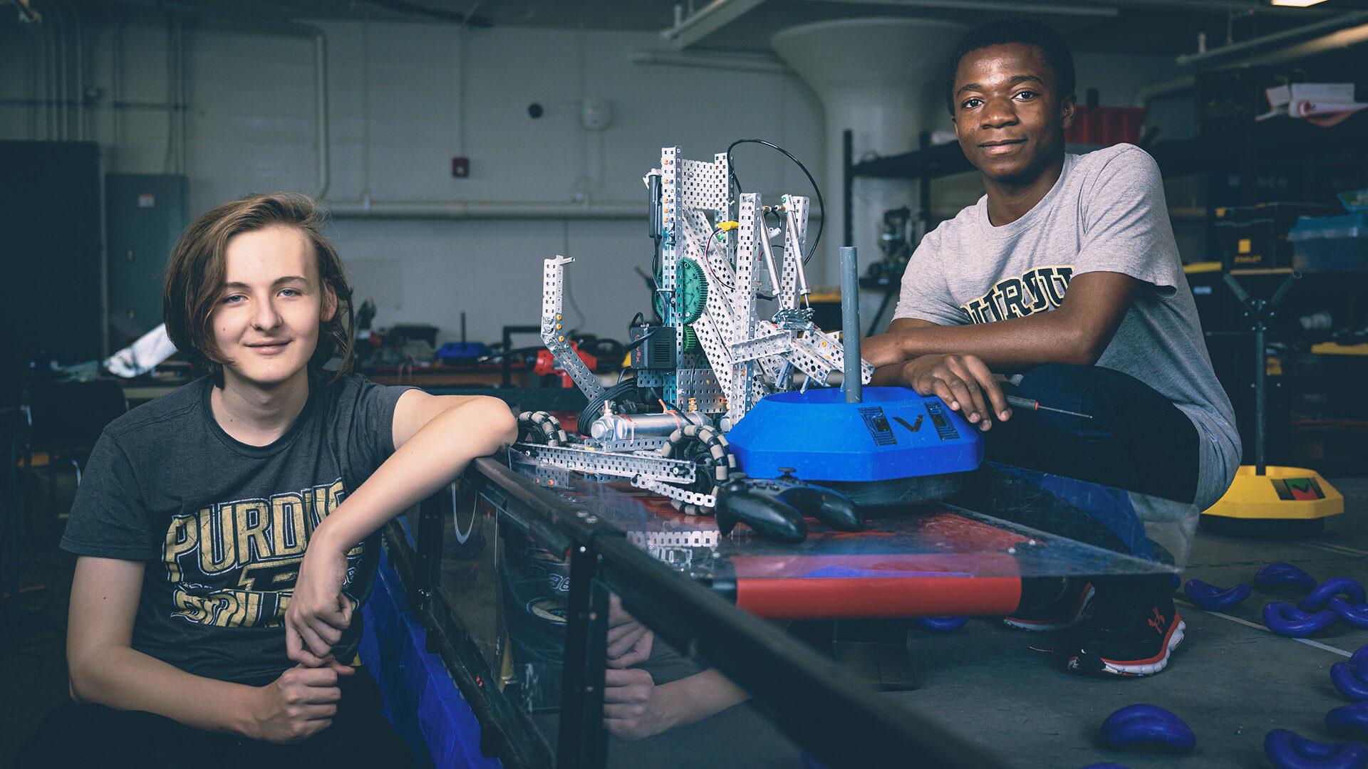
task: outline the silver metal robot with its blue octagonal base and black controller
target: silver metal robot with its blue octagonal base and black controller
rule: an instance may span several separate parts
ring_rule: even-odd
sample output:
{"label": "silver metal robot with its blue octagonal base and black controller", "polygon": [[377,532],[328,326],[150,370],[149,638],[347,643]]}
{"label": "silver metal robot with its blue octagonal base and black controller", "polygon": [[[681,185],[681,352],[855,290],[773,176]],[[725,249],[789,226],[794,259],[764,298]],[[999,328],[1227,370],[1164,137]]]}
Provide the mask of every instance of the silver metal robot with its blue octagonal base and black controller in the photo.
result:
{"label": "silver metal robot with its blue octagonal base and black controller", "polygon": [[[685,513],[715,512],[722,535],[744,523],[780,542],[803,540],[804,513],[858,531],[860,505],[953,493],[982,460],[978,431],[938,398],[860,390],[873,368],[858,320],[843,341],[807,307],[807,198],[733,197],[731,178],[728,153],[707,163],[679,148],[647,175],[659,322],[631,330],[632,379],[605,387],[581,363],[561,315],[573,260],[544,261],[542,339],[588,405],[573,438],[549,413],[520,415],[514,460],[547,483],[628,479]],[[828,386],[841,371],[844,391]]]}

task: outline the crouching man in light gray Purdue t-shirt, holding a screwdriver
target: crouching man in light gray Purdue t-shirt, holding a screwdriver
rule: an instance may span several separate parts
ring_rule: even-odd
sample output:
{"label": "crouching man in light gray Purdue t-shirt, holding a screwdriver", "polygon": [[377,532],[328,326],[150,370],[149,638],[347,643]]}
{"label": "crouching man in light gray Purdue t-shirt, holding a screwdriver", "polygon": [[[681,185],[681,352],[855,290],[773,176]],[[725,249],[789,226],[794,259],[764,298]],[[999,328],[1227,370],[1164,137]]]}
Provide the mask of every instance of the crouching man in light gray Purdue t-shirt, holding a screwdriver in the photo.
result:
{"label": "crouching man in light gray Purdue t-shirt, holding a screwdriver", "polygon": [[[1048,26],[1001,19],[960,41],[945,105],[986,194],[917,246],[895,319],[863,356],[876,384],[940,395],[977,424],[989,460],[1205,509],[1234,478],[1239,439],[1159,167],[1129,144],[1067,155],[1074,101],[1073,56]],[[1014,417],[1004,390],[1092,419]],[[1109,528],[1094,543],[1152,557],[1135,521]],[[1008,623],[1077,624],[1093,588],[1066,666],[1161,670],[1185,628],[1167,575],[1075,580],[1055,606]]]}

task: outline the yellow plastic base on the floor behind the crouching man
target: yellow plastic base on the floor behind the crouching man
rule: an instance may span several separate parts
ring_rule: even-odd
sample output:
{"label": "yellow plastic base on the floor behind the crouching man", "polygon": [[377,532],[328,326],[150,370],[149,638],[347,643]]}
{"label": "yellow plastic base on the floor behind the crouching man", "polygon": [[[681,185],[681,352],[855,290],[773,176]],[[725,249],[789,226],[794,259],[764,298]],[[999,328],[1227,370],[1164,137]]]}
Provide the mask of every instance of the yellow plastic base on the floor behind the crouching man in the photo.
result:
{"label": "yellow plastic base on the floor behind the crouching man", "polygon": [[1228,519],[1313,520],[1345,512],[1345,497],[1319,472],[1298,467],[1241,465],[1235,482],[1204,516]]}

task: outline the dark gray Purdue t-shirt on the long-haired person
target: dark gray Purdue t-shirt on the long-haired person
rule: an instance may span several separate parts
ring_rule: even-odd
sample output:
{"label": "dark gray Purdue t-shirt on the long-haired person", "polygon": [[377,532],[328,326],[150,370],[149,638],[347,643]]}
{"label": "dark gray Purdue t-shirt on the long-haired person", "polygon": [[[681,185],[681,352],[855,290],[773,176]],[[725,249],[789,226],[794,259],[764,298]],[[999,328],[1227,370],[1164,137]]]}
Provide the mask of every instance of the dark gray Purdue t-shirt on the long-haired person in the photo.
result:
{"label": "dark gray Purdue t-shirt on the long-haired person", "polygon": [[[394,453],[408,387],[361,376],[309,383],[269,446],[228,436],[208,378],[112,421],[96,443],[62,547],[146,561],[133,649],[198,676],[261,686],[293,668],[285,608],[319,521]],[[376,536],[347,553],[346,592],[371,592]],[[334,649],[356,654],[361,614]]]}

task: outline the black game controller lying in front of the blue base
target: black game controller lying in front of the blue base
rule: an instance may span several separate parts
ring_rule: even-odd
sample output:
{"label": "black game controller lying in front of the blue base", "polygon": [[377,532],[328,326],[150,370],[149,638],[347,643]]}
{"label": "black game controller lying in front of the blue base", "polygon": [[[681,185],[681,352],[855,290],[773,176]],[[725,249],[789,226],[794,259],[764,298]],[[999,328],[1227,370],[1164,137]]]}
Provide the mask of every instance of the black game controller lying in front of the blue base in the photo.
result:
{"label": "black game controller lying in front of the blue base", "polygon": [[733,475],[717,490],[717,530],[722,535],[744,523],[757,534],[796,545],[807,539],[804,514],[839,531],[865,528],[865,516],[844,494],[793,478],[792,468],[767,480]]}

